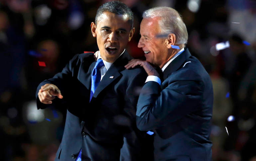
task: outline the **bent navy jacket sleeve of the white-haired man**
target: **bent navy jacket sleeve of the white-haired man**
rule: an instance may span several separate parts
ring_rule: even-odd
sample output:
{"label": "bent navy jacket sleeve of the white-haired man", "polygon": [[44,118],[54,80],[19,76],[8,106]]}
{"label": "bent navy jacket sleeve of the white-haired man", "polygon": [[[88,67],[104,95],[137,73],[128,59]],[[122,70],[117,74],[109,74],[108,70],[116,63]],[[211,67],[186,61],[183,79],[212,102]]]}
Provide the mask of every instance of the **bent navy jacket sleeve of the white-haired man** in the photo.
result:
{"label": "bent navy jacket sleeve of the white-haired man", "polygon": [[201,107],[204,85],[199,74],[181,69],[167,79],[164,89],[154,81],[143,86],[136,112],[138,129],[157,129]]}

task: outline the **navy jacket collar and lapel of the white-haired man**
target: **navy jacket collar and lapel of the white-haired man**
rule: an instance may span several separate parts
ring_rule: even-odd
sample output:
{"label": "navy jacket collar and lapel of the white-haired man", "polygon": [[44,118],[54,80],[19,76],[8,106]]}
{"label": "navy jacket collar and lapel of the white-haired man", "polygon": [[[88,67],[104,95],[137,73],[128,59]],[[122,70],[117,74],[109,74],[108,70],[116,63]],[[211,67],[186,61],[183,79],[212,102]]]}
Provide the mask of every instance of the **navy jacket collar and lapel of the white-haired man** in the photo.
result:
{"label": "navy jacket collar and lapel of the white-haired man", "polygon": [[177,58],[175,58],[164,70],[163,78],[166,80],[173,72],[177,71],[182,64],[191,56],[188,49],[185,49]]}

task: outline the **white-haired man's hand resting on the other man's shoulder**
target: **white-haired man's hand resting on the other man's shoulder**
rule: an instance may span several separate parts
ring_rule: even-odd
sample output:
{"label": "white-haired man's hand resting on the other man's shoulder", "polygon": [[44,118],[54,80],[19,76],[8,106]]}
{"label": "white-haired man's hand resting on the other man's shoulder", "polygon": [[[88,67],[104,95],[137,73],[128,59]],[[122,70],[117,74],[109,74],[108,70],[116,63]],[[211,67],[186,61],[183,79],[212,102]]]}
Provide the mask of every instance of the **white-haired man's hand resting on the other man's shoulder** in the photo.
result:
{"label": "white-haired man's hand resting on the other man's shoulder", "polygon": [[144,70],[147,72],[148,76],[160,77],[158,72],[155,70],[155,68],[149,62],[143,61],[140,59],[132,59],[124,67],[126,69],[130,69],[130,68],[136,67],[137,65],[140,65],[141,67],[143,67]]}

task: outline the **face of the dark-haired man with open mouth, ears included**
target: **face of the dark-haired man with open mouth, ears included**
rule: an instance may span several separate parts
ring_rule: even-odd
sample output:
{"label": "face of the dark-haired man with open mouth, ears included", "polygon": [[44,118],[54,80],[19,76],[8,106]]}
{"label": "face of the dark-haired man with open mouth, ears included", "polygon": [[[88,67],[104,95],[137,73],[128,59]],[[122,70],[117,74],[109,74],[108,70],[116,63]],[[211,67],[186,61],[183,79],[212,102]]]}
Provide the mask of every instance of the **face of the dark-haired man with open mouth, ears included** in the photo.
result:
{"label": "face of the dark-haired man with open mouth, ears included", "polygon": [[97,38],[100,56],[110,63],[113,63],[124,51],[134,30],[134,28],[131,29],[127,15],[116,15],[110,12],[103,12],[97,25],[91,23],[92,35]]}

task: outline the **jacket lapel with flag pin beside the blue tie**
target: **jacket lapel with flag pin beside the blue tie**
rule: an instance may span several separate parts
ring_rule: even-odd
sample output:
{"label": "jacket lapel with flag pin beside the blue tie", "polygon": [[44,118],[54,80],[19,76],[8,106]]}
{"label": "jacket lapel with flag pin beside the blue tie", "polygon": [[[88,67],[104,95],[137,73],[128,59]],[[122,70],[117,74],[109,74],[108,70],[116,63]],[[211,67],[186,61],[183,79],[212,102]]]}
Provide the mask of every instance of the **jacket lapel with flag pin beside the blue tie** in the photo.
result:
{"label": "jacket lapel with flag pin beside the blue tie", "polygon": [[105,89],[111,82],[121,76],[120,71],[125,69],[124,66],[128,63],[129,58],[129,54],[125,50],[125,52],[112,64],[112,66],[103,76],[93,94],[93,97],[97,97],[103,89]]}

